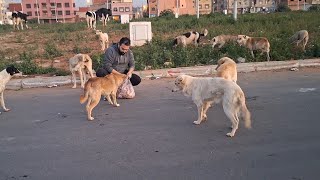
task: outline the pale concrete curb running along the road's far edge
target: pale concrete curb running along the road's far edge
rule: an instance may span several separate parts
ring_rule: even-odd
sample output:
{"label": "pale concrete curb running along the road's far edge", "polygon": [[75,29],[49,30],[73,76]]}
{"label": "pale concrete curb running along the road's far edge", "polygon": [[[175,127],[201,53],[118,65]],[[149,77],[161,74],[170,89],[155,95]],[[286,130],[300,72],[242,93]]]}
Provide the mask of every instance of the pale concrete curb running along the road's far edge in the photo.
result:
{"label": "pale concrete curb running along the road's far edge", "polygon": [[[299,67],[315,67],[320,66],[320,59],[305,59],[291,61],[271,61],[271,62],[254,62],[237,64],[239,73],[255,72],[255,71],[270,71],[279,69],[290,69]],[[181,67],[170,69],[156,69],[135,71],[142,79],[177,77],[180,74],[188,74],[191,76],[214,75],[217,65]],[[12,79],[6,86],[6,89],[22,89],[36,87],[54,87],[71,84],[71,76],[53,76],[53,77],[34,77],[24,79]]]}

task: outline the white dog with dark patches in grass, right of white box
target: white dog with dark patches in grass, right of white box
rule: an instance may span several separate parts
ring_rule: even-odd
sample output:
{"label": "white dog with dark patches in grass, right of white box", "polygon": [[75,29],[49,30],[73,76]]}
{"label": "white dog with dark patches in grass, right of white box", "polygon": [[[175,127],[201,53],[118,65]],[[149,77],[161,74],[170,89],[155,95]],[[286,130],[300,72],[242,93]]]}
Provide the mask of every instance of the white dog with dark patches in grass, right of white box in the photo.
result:
{"label": "white dog with dark patches in grass, right of white box", "polygon": [[179,44],[182,44],[183,47],[186,47],[188,44],[194,43],[195,46],[198,46],[200,38],[202,36],[207,36],[208,30],[205,29],[201,34],[199,32],[190,31],[181,36],[178,36],[173,41],[173,47],[177,47]]}

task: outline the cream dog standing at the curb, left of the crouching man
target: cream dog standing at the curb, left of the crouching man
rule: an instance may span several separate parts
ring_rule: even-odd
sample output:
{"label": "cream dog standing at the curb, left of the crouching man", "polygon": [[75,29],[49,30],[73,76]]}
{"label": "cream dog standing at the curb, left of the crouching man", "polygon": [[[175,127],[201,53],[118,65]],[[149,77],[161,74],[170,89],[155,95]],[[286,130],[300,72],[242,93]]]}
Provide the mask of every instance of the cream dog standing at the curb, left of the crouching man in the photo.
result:
{"label": "cream dog standing at the curb, left of the crouching man", "polygon": [[73,86],[77,87],[76,72],[78,71],[80,76],[81,88],[84,88],[84,82],[86,82],[86,71],[89,72],[90,77],[93,77],[92,73],[92,59],[88,54],[77,54],[69,59],[69,68],[72,74]]}

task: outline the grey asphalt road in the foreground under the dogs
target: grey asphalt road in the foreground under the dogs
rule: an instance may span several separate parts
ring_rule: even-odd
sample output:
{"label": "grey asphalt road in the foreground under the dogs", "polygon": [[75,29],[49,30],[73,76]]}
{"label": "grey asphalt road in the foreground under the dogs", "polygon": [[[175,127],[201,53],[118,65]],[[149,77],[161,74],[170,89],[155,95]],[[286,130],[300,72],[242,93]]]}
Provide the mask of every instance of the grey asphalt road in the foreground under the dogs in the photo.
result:
{"label": "grey asphalt road in the foreground under the dogs", "polygon": [[92,122],[71,85],[6,91],[0,180],[319,179],[320,69],[239,74],[253,129],[233,138],[221,105],[193,125],[173,81],[145,80],[120,107],[101,101]]}

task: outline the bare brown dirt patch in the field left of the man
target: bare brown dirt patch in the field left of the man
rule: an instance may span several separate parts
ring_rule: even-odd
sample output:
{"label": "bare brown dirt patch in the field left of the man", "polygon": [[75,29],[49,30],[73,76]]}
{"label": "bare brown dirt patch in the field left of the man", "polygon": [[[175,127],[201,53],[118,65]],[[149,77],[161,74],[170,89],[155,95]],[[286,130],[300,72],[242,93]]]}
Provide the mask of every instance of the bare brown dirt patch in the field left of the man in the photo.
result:
{"label": "bare brown dirt patch in the field left of the man", "polygon": [[[32,53],[33,60],[42,67],[54,67],[68,70],[68,59],[74,56],[75,47],[81,53],[102,54],[98,36],[90,29],[76,32],[53,32],[45,33],[48,30],[37,28],[23,31],[14,31],[0,34],[0,57],[6,60],[19,61],[19,55],[23,52]],[[106,32],[106,30],[103,30]],[[109,45],[117,42],[122,36],[119,32],[110,32]],[[45,57],[46,44],[52,43],[63,54],[62,56],[48,59]]]}

